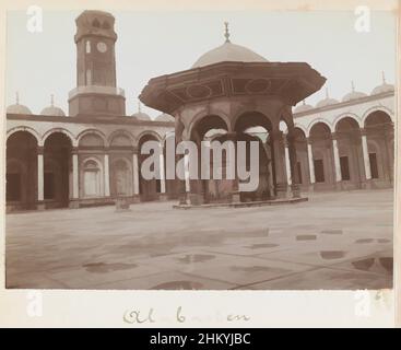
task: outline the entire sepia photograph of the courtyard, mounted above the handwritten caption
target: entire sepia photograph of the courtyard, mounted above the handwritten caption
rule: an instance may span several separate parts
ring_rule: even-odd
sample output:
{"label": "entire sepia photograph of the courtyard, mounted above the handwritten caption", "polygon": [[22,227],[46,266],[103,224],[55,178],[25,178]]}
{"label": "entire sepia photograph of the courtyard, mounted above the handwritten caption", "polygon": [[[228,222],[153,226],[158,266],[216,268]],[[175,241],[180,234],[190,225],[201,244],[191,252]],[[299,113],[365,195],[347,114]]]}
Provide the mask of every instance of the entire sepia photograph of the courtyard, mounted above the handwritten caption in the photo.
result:
{"label": "entire sepia photograph of the courtyard, mounted above the handwritten caption", "polygon": [[5,27],[8,290],[393,288],[393,12]]}

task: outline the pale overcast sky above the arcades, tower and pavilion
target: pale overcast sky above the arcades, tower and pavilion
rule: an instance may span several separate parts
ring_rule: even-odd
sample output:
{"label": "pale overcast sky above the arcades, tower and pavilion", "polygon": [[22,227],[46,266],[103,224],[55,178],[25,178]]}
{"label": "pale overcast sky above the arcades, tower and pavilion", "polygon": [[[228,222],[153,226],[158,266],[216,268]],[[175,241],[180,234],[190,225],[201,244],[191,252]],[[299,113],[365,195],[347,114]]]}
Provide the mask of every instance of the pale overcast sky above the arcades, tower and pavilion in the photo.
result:
{"label": "pale overcast sky above the arcades, tower and pavilion", "polygon": [[[76,86],[75,18],[81,11],[45,11],[43,32],[26,30],[28,15],[7,16],[5,104],[20,103],[34,114],[50,104],[68,113],[68,92]],[[231,40],[269,61],[305,61],[328,79],[330,97],[341,100],[355,90],[370,93],[396,80],[396,16],[371,12],[370,31],[359,33],[353,11],[121,12],[116,18],[117,84],[126,91],[126,112],[138,112],[138,95],[157,75],[189,69],[208,50],[224,43],[224,22]],[[325,89],[306,102],[325,98]],[[161,113],[142,106],[155,118]]]}

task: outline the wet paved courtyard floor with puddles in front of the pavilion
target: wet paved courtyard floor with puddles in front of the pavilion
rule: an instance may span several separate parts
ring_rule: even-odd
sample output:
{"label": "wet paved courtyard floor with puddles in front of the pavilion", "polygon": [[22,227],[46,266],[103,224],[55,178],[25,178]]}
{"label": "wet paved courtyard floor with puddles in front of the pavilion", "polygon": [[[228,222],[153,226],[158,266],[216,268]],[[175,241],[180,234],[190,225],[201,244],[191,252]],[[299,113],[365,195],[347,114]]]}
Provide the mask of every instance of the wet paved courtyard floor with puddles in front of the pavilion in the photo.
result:
{"label": "wet paved courtyard floor with puddles in front of the pavilion", "polygon": [[7,215],[7,285],[40,289],[392,287],[392,191],[177,210],[174,202]]}

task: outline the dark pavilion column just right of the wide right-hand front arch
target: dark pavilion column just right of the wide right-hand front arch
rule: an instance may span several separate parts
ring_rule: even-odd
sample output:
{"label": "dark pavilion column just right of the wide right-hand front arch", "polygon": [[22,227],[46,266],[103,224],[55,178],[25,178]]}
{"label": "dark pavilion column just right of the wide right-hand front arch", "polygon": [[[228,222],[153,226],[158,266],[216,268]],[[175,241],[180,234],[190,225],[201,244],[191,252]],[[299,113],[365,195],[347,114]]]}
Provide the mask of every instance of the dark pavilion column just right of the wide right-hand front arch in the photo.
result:
{"label": "dark pavilion column just right of the wide right-hand front arch", "polygon": [[270,133],[270,137],[274,155],[275,195],[279,198],[285,198],[287,191],[287,179],[285,175],[285,150],[283,132],[273,131]]}

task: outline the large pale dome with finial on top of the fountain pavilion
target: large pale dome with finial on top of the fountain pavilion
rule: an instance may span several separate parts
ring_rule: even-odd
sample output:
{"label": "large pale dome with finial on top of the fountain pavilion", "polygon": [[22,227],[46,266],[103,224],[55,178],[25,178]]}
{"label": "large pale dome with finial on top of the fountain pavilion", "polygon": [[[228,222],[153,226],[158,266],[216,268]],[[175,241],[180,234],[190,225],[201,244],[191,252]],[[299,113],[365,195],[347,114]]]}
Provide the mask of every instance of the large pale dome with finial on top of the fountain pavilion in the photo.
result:
{"label": "large pale dome with finial on top of the fountain pavilion", "polygon": [[268,60],[249,48],[229,42],[228,23],[225,24],[225,43],[203,54],[191,68],[204,67],[213,63],[229,62],[268,62]]}

